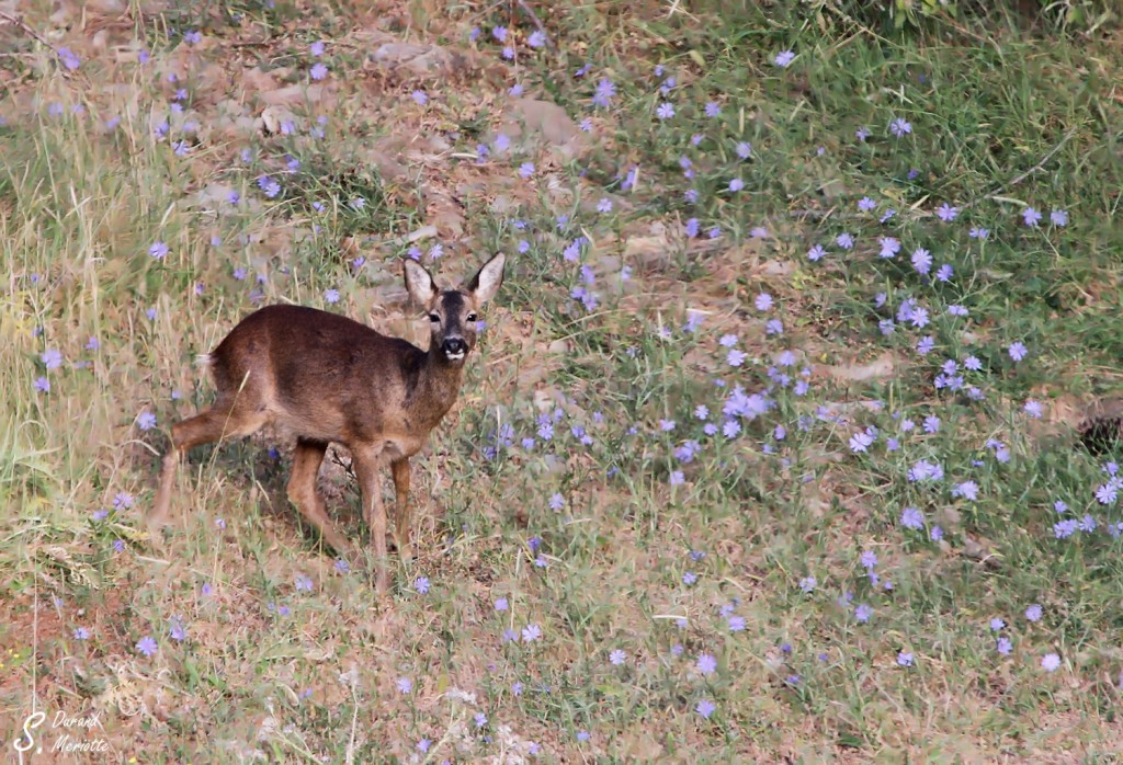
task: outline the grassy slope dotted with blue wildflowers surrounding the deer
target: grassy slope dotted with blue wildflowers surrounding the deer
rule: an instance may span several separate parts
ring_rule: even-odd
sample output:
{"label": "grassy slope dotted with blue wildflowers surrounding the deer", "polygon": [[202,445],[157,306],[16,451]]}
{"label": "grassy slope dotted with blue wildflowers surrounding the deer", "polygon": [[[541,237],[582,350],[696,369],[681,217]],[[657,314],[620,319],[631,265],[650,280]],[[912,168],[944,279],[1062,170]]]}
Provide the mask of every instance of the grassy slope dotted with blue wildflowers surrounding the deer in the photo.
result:
{"label": "grassy slope dotted with blue wildflowers surrounding the deer", "polygon": [[[188,55],[183,30],[211,38],[193,66],[231,66],[229,43],[272,25],[276,40],[247,55],[292,67],[287,83],[309,82],[309,40],[350,28],[339,9],[292,33],[287,6],[214,7],[206,24],[145,19],[152,64],[83,54],[74,76],[29,67],[20,87],[36,105],[6,104],[0,730],[19,729],[35,683],[37,708],[101,711],[126,761],[1119,756],[1123,564],[1106,529],[1123,518],[1095,497],[1112,455],[1084,451],[1066,414],[1120,387],[1111,87],[1123,59],[1111,39],[997,16],[898,36],[838,15],[820,25],[795,4],[720,18],[695,6],[695,19],[586,4],[547,19],[548,55],[528,47],[518,12],[417,3],[428,36],[483,59],[502,47],[491,28],[510,27],[518,63],[418,80],[360,70],[349,38],[329,42],[334,109],[294,108],[291,135],[216,130],[179,156],[182,119],[163,139],[148,116],[167,111],[154,72]],[[788,48],[795,59],[776,66]],[[593,108],[602,77],[617,94]],[[578,159],[495,147],[515,83],[592,119]],[[192,93],[193,118],[228,95]],[[665,102],[675,114],[659,119]],[[892,136],[896,119],[911,132]],[[449,148],[407,148],[393,157],[407,172],[383,177],[358,159],[383,136]],[[476,164],[480,142],[491,153]],[[864,196],[876,212],[859,211]],[[953,221],[935,214],[944,202]],[[1026,206],[1040,225],[1024,224]],[[428,224],[438,236],[411,245]],[[883,237],[900,240],[895,258],[879,257]],[[395,562],[391,596],[340,573],[302,528],[284,498],[284,434],[193,452],[174,532],[155,547],[143,513],[157,457],[171,424],[212,396],[193,358],[281,301],[423,344],[398,258],[416,246],[428,264],[437,243],[444,282],[496,250],[510,266],[460,402],[413,460],[418,559]],[[816,245],[827,255],[813,261]],[[910,261],[920,247],[926,277]],[[944,264],[951,277],[932,278]],[[907,299],[926,323],[901,313]],[[62,363],[47,368],[54,350]],[[856,451],[867,428],[876,437]],[[329,458],[321,483],[366,543],[346,463]],[[910,480],[919,463],[942,474]],[[902,524],[905,508],[922,528]],[[1085,515],[1094,531],[1057,538],[1056,523]],[[153,656],[136,647],[146,636]]]}

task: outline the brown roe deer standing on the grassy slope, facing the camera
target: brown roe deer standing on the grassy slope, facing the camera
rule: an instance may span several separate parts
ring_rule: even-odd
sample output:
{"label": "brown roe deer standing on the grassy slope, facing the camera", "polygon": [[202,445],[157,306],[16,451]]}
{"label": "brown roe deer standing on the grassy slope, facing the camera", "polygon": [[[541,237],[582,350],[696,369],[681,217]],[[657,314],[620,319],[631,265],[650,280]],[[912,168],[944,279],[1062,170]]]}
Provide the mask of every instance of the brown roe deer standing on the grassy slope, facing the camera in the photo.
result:
{"label": "brown roe deer standing on the grassy slope, facing the camera", "polygon": [[387,589],[386,511],[380,470],[390,463],[396,494],[398,551],[410,557],[410,457],[456,402],[464,362],[476,344],[476,312],[503,283],[503,254],[459,289],[438,289],[413,260],[405,287],[429,314],[429,350],[364,324],[299,305],[270,305],[246,316],[206,357],[218,387],[207,411],[172,426],[149,524],[167,515],[176,466],[192,446],[249,435],[267,423],[295,431],[289,499],[323,540],[351,562],[355,549],[336,529],[316,477],[329,442],[350,450],[374,543],[375,588]]}

